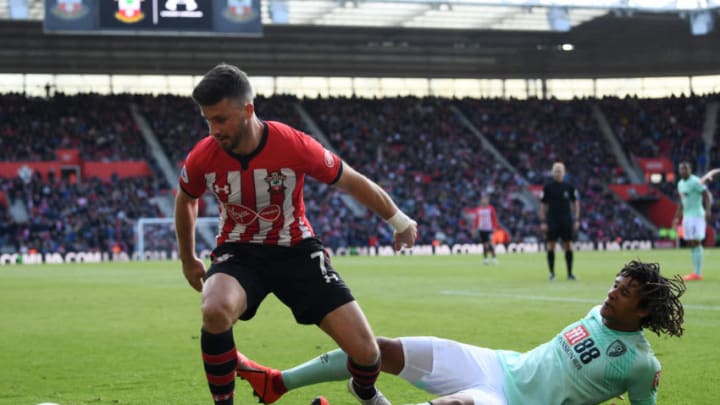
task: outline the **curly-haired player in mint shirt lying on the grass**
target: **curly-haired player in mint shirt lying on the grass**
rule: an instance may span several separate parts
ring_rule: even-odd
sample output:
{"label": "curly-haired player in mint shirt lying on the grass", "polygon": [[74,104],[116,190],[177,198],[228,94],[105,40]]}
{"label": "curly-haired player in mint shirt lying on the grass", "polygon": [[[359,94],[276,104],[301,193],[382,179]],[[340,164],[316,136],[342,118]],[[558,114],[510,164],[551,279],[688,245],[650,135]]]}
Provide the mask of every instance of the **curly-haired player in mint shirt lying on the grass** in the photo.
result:
{"label": "curly-haired player in mint shirt lying on the grass", "polygon": [[[431,405],[597,404],[625,392],[632,405],[654,405],[660,362],[643,329],[681,336],[684,292],[680,276],[668,279],[658,264],[632,261],[602,305],[528,352],[436,337],[379,337],[382,369],[437,396],[425,403]],[[265,403],[288,390],[350,376],[339,349],[284,371],[239,356],[238,376]]]}

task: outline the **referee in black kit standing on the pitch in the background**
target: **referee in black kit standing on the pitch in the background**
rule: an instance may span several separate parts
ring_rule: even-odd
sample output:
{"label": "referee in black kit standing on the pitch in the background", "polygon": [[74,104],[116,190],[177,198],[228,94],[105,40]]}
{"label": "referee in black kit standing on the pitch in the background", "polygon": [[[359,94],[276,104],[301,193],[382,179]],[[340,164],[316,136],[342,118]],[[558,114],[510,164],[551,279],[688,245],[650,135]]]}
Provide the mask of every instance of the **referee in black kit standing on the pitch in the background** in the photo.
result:
{"label": "referee in black kit standing on the pitch in the background", "polygon": [[568,280],[575,280],[572,272],[572,242],[580,228],[580,199],[577,189],[565,182],[565,165],[555,162],[552,167],[553,181],[543,187],[540,198],[540,229],[547,241],[547,260],[550,281],[555,279],[555,242],[562,239],[565,250]]}

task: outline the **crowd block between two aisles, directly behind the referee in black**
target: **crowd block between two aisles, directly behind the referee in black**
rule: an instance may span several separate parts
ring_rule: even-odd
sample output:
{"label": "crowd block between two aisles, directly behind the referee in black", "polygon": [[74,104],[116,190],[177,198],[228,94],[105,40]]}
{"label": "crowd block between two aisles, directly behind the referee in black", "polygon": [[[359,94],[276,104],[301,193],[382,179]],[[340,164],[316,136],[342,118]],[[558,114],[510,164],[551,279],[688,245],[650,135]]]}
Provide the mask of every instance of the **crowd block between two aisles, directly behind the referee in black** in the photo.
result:
{"label": "crowd block between two aisles, directly behind the referee in black", "polygon": [[631,207],[607,185],[627,183],[585,100],[471,100],[462,110],[531,184],[565,162],[567,181],[580,192],[580,240],[653,239]]}

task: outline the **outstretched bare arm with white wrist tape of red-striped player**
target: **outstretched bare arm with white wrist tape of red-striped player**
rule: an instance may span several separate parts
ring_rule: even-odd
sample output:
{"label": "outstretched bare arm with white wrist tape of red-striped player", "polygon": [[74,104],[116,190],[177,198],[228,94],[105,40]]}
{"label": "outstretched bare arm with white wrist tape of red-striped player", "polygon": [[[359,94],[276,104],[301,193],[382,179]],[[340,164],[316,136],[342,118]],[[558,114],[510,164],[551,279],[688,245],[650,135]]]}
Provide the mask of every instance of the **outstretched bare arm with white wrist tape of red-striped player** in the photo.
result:
{"label": "outstretched bare arm with white wrist tape of red-striped player", "polygon": [[380,215],[395,229],[393,247],[401,250],[412,247],[417,239],[417,222],[402,212],[392,198],[377,183],[343,163],[343,173],[335,185],[359,203]]}

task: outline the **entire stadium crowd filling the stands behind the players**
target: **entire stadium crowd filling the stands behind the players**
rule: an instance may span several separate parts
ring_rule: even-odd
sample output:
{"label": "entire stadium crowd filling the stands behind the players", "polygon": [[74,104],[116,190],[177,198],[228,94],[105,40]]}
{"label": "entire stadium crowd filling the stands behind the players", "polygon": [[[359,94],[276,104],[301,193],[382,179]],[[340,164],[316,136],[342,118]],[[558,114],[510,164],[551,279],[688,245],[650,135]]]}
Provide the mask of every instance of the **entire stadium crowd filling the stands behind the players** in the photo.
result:
{"label": "entire stadium crowd filling the stands behind the players", "polygon": [[[537,208],[527,198],[527,187],[548,181],[555,160],[566,162],[568,181],[581,193],[579,239],[654,239],[654,231],[639,220],[638,213],[607,187],[628,179],[595,123],[594,102],[607,114],[631,156],[669,153],[674,160],[684,159],[705,147],[698,136],[703,98],[300,100],[273,96],[258,97],[256,110],[263,119],[312,132],[296,110],[302,105],[328,137],[321,142],[329,143],[326,146],[350,165],[375,179],[418,219],[419,244],[474,241],[461,212],[477,205],[482,194],[490,196],[511,240],[539,241]],[[7,94],[0,96],[0,159],[53,160],[56,149],[70,147],[79,149],[86,160],[143,160],[155,168],[150,148],[129,113],[130,103],[139,106],[168,158],[178,165],[204,136],[205,123],[187,97],[56,94],[43,99]],[[455,107],[514,170],[483,148],[481,139],[460,121]],[[657,146],[644,145],[646,139]],[[716,146],[711,151],[718,155]],[[715,155],[708,162],[720,166]],[[152,197],[171,191],[161,179],[159,175],[110,182],[91,178],[72,183],[55,176],[32,176],[29,181],[3,178],[0,191],[10,203],[21,201],[30,220],[16,222],[8,207],[0,204],[0,246],[16,251],[132,252],[135,220],[162,216]],[[334,188],[307,179],[305,194],[307,215],[329,247],[390,242],[391,228],[376,216],[367,213],[347,220],[355,215],[353,208]],[[146,243],[149,248],[173,249],[173,232],[158,230]]]}

